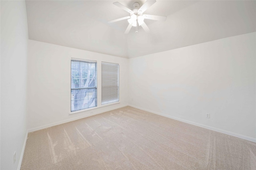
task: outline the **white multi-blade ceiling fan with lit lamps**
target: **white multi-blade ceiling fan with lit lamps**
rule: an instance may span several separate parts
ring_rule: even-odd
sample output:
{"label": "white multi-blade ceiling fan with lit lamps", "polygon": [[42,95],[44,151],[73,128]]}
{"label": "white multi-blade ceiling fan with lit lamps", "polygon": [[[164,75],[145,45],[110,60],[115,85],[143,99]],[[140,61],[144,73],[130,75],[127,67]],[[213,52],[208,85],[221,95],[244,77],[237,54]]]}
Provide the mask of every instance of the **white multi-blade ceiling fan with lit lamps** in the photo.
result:
{"label": "white multi-blade ceiling fan with lit lamps", "polygon": [[148,26],[145,24],[144,19],[149,19],[149,20],[157,20],[157,21],[165,21],[166,16],[157,16],[157,15],[148,15],[148,14],[143,14],[150,6],[152,6],[156,0],[147,0],[140,8],[140,4],[138,2],[134,2],[133,6],[134,9],[130,10],[126,6],[120,4],[119,2],[114,2],[113,4],[118,6],[119,8],[122,8],[123,10],[127,11],[130,13],[130,16],[126,16],[123,18],[118,18],[116,20],[109,21],[108,23],[113,23],[121,20],[126,20],[128,19],[129,25],[126,28],[124,34],[128,34],[132,28],[132,26],[136,27],[136,32],[138,32],[138,26],[142,26],[142,28],[145,30],[145,32],[150,32]]}

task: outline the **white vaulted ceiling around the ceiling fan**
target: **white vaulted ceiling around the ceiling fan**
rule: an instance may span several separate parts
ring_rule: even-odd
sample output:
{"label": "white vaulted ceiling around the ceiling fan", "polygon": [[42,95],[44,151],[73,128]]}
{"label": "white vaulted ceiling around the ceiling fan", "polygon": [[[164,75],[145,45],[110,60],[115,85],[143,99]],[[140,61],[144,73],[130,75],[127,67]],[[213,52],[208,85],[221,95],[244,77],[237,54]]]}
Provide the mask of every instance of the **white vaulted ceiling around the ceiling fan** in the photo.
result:
{"label": "white vaulted ceiling around the ceiling fan", "polygon": [[145,0],[26,1],[29,39],[118,57],[138,57],[256,31],[256,1],[157,0],[144,14],[151,32],[135,27],[124,34],[128,16],[113,2],[132,9]]}

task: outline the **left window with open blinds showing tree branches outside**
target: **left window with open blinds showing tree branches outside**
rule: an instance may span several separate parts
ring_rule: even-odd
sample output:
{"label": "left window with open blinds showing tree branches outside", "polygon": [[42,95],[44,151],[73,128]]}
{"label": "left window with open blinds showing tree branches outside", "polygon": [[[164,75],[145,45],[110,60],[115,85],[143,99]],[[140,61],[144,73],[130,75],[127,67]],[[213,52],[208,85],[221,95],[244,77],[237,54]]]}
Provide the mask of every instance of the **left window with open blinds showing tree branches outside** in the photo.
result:
{"label": "left window with open blinds showing tree branches outside", "polygon": [[71,60],[71,111],[97,106],[97,62]]}

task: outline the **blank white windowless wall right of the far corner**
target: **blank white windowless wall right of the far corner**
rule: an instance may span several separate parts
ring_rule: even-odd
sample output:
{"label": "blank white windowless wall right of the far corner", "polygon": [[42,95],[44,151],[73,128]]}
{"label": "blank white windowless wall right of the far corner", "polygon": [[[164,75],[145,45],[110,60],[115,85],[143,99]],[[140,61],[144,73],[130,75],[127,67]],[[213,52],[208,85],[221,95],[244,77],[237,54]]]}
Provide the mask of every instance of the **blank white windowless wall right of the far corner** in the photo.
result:
{"label": "blank white windowless wall right of the far corner", "polygon": [[255,58],[253,32],[129,59],[129,103],[255,139]]}

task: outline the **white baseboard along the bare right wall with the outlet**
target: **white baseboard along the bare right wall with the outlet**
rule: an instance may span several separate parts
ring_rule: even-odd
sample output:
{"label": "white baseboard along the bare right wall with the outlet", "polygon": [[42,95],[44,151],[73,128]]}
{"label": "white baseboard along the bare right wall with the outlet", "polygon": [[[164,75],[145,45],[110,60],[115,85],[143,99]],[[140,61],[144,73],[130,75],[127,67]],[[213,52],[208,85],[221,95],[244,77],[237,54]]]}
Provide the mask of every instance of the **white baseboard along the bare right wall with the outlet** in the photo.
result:
{"label": "white baseboard along the bare right wall with the outlet", "polygon": [[252,142],[256,142],[256,138],[250,138],[248,136],[243,136],[241,134],[236,134],[236,133],[233,133],[233,132],[228,132],[226,130],[221,130],[221,129],[214,128],[214,127],[209,127],[209,126],[202,125],[202,124],[199,124],[199,123],[195,123],[195,122],[192,122],[192,121],[187,121],[187,120],[180,119],[180,118],[177,118],[177,117],[173,117],[173,116],[165,115],[165,114],[162,114],[162,113],[150,111],[148,109],[144,109],[144,108],[137,107],[137,106],[134,106],[134,105],[128,104],[128,106],[134,107],[134,108],[137,108],[137,109],[140,109],[140,110],[143,110],[143,111],[148,111],[150,113],[154,113],[154,114],[161,115],[161,116],[164,116],[164,117],[168,117],[168,118],[171,118],[171,119],[175,119],[177,121],[182,121],[182,122],[189,123],[189,124],[192,124],[192,125],[196,125],[196,126],[199,126],[199,127],[208,128],[210,130],[214,130],[214,131],[217,131],[217,132],[221,132],[221,133],[224,133],[224,134],[228,134],[228,135],[231,135],[231,136],[236,136],[238,138],[242,138],[242,139],[245,139],[245,140],[250,140]]}

